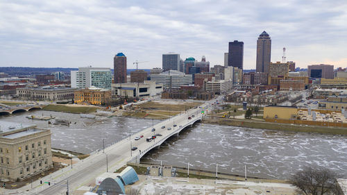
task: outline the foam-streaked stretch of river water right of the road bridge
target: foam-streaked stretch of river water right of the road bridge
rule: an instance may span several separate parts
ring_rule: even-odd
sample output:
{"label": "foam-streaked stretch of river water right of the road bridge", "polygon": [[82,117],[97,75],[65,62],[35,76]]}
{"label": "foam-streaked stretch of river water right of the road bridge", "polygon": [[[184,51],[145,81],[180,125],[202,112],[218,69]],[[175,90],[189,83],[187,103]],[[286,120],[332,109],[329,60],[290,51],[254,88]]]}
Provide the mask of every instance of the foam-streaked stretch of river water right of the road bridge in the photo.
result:
{"label": "foam-streaked stretch of river water right of the road bridge", "polygon": [[261,178],[288,178],[305,166],[328,167],[347,178],[347,136],[196,124],[141,161]]}

